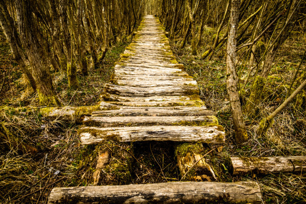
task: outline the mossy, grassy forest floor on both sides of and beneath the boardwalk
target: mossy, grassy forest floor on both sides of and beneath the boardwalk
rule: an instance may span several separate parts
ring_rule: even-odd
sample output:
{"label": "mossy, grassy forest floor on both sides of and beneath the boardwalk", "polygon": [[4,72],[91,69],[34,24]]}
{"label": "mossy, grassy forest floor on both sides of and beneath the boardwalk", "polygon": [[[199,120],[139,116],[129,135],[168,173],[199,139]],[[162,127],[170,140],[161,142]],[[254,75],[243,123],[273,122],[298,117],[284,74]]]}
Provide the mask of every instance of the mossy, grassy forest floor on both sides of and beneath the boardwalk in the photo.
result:
{"label": "mossy, grassy forest floor on both sides of and beneath the boardwalk", "polygon": [[[26,84],[21,71],[11,60],[9,46],[2,39],[4,36],[0,33],[1,83],[5,70],[0,104],[10,107],[28,106],[32,109],[26,115],[16,114],[12,109],[0,111],[0,128],[10,135],[9,141],[4,141],[0,137],[0,202],[46,203],[52,187],[90,185],[96,163],[95,155],[91,152],[94,152],[96,146],[80,144],[76,134],[79,127],[77,124],[51,121],[42,117],[35,108],[38,102],[36,95],[32,94],[29,88],[24,88]],[[294,37],[289,40],[279,53],[282,57],[278,57],[273,67],[274,78],[269,82],[272,91],[261,104],[262,114],[271,112],[280,104],[279,101],[282,101],[285,95],[283,86],[290,81],[301,57],[297,54],[301,51],[296,47],[303,45],[298,44],[298,39]],[[78,73],[77,89],[68,89],[64,74],[55,73],[53,70],[53,85],[62,104],[70,106],[97,104],[103,84],[109,81],[114,62],[124,51],[127,43],[127,41],[122,42],[109,49],[103,62],[89,70],[89,76],[83,77]],[[218,181],[256,180],[266,203],[306,202],[305,175],[279,173],[233,177],[228,173],[226,165],[226,158],[229,155],[305,155],[305,111],[299,109],[296,101],[290,104],[277,116],[267,136],[261,138],[257,138],[254,134],[258,120],[245,117],[250,139],[243,146],[237,146],[233,139],[232,120],[226,95],[224,53],[220,54],[219,58],[203,61],[191,56],[189,47],[180,49],[174,41],[170,41],[170,45],[177,61],[183,63],[185,71],[197,80],[200,96],[207,108],[216,112],[219,123],[225,128],[226,143],[222,152],[215,151],[211,155]],[[304,68],[303,66],[301,69]],[[113,141],[111,145],[133,147],[135,158],[133,174],[131,181],[126,183],[122,181],[123,183],[106,184],[179,180],[173,151],[175,144],[175,142],[120,144]]]}

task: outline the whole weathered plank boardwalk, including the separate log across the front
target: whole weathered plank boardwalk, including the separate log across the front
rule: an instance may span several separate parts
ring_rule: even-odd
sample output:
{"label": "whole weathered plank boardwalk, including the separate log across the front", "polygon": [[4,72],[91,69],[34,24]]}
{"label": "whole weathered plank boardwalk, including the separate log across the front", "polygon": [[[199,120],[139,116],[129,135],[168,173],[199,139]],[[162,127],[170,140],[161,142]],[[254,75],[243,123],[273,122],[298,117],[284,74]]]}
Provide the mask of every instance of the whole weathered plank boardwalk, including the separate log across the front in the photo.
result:
{"label": "whole weathered plank boardwalk, including the separate log across the front", "polygon": [[[156,17],[147,15],[105,84],[101,110],[84,118],[83,144],[116,139],[222,144],[223,128],[198,95],[196,81],[178,64]],[[261,203],[256,182],[170,182],[54,188],[48,203]]]}

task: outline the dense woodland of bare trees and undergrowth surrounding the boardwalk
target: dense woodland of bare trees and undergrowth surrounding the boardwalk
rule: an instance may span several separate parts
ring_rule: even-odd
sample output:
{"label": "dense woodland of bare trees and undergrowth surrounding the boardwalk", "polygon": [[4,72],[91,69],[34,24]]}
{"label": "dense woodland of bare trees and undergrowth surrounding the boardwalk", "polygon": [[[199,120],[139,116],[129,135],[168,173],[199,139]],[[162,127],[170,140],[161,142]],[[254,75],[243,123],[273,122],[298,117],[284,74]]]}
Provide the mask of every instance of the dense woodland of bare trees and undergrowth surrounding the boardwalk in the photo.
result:
{"label": "dense woodland of bare trees and undergrowth surrounding the boardwalk", "polygon": [[[256,180],[266,203],[306,202],[304,174],[233,176],[226,164],[305,155],[305,13],[303,0],[0,0],[0,202],[45,203],[52,187],[92,184],[98,149],[80,145],[77,121],[41,108],[96,105],[145,14],[225,128],[210,158],[218,181]],[[173,142],[108,144],[127,149],[122,158],[134,149],[135,173],[102,184],[181,179]]]}

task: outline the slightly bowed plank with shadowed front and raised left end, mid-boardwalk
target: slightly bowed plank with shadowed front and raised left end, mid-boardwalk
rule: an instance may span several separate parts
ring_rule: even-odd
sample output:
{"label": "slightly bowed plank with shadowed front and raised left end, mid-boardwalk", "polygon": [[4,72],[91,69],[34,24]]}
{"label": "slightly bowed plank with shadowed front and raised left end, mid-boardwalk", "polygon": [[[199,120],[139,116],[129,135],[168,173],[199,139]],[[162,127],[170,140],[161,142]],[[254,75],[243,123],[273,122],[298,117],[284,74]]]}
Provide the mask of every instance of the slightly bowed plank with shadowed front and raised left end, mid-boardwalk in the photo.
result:
{"label": "slightly bowed plank with shadowed front and raised left end, mid-boardwalk", "polygon": [[160,95],[193,95],[198,94],[198,87],[194,85],[160,86],[160,87],[132,87],[114,84],[105,84],[104,91],[127,97],[144,97]]}

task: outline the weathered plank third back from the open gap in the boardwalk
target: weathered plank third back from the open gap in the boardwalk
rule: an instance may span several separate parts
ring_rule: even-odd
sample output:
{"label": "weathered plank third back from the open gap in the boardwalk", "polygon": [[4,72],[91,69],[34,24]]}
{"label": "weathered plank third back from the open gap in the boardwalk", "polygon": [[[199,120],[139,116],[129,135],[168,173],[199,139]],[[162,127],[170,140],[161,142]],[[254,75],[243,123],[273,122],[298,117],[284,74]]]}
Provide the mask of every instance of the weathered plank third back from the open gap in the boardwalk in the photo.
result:
{"label": "weathered plank third back from the open gap in the boardwalk", "polygon": [[210,110],[206,110],[204,108],[190,107],[182,108],[182,109],[173,109],[173,108],[129,108],[129,109],[117,109],[117,110],[98,110],[93,111],[91,116],[191,116],[191,115],[213,115],[213,112]]}

